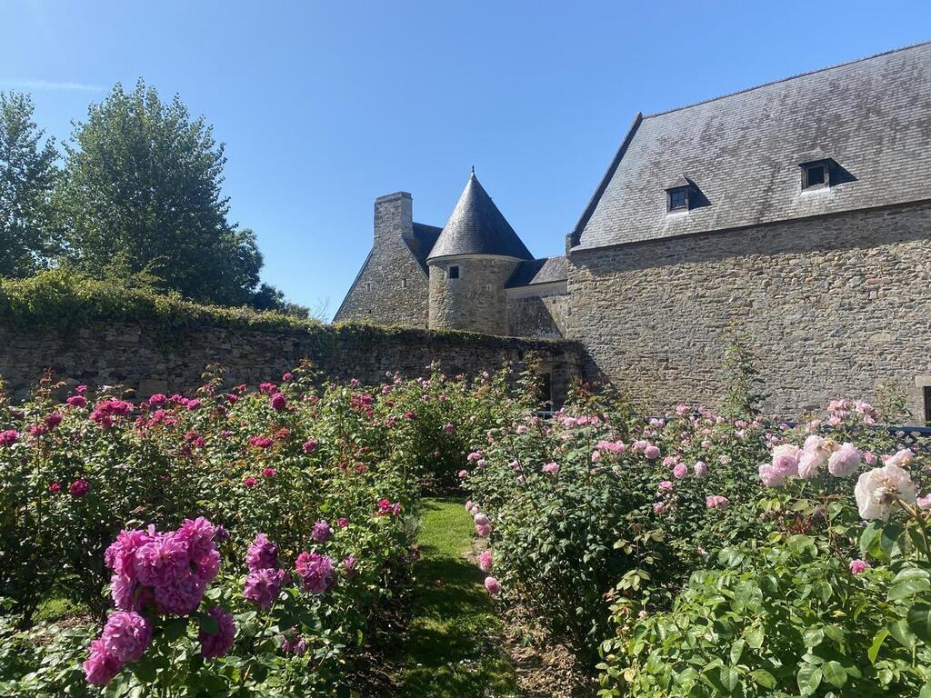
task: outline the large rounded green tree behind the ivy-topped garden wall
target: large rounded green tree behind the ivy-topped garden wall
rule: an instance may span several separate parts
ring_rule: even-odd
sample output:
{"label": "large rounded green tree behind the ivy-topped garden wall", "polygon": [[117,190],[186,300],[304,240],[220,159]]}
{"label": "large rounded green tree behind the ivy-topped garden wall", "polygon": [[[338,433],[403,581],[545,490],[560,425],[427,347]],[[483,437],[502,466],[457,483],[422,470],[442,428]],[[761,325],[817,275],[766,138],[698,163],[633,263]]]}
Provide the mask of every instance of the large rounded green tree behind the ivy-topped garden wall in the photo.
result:
{"label": "large rounded green tree behind the ivy-topped garden wall", "polygon": [[56,192],[65,258],[92,275],[156,279],[199,302],[252,302],[262,254],[227,219],[223,144],[178,95],[116,85],[65,145]]}

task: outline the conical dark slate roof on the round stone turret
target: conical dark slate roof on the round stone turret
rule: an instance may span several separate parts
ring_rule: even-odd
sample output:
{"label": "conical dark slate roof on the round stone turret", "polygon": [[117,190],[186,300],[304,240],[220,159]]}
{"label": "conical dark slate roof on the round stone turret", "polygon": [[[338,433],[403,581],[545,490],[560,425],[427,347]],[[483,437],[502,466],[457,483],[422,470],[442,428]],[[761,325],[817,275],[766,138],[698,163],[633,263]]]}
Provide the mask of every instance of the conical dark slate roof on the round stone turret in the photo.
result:
{"label": "conical dark slate roof on the round stone turret", "polygon": [[530,250],[479,184],[475,170],[427,260],[456,254],[494,254],[533,260]]}

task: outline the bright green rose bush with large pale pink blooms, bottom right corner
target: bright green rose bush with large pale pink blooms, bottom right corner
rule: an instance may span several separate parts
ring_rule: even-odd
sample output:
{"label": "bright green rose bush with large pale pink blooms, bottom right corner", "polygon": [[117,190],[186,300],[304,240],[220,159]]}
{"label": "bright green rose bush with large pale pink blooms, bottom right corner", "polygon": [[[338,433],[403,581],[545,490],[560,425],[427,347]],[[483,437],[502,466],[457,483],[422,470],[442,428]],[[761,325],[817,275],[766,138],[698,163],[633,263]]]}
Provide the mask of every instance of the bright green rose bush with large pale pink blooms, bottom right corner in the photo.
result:
{"label": "bright green rose bush with large pale pink blooms, bottom right corner", "polygon": [[870,406],[829,415],[760,465],[764,535],[711,557],[670,610],[615,602],[600,695],[931,693],[926,465]]}

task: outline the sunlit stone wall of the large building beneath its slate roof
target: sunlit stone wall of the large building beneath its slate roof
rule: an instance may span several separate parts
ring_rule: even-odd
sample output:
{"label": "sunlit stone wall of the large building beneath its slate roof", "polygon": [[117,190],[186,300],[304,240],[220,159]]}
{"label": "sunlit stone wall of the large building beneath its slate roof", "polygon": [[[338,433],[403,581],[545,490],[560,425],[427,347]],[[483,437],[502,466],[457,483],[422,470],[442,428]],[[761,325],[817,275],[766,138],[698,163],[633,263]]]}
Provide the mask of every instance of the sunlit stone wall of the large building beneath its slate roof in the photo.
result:
{"label": "sunlit stone wall of the large building beneath its slate roof", "polygon": [[570,335],[653,409],[714,404],[728,329],[747,332],[787,415],[931,384],[931,206],[575,251]]}

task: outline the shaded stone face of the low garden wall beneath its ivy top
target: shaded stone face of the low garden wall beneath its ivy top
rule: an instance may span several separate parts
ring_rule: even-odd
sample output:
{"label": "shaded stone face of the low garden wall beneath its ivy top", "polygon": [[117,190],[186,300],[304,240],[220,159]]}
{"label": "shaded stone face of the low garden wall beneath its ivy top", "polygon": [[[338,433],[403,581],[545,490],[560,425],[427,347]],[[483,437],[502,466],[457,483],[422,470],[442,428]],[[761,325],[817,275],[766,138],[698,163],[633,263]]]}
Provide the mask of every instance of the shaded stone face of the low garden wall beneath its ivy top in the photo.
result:
{"label": "shaded stone face of the low garden wall beneath its ivy top", "polygon": [[190,393],[201,384],[208,364],[223,366],[229,385],[276,381],[304,358],[313,360],[326,378],[372,384],[389,370],[409,378],[423,375],[434,360],[450,375],[476,375],[505,363],[519,368],[531,351],[552,371],[560,401],[582,370],[581,348],[574,342],[352,325],[274,332],[202,327],[166,336],[138,323],[93,322],[63,333],[0,321],[0,377],[14,396],[24,395],[47,368],[71,385],[119,383],[148,397]]}

